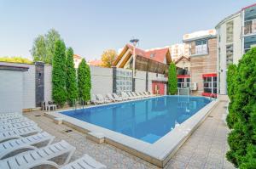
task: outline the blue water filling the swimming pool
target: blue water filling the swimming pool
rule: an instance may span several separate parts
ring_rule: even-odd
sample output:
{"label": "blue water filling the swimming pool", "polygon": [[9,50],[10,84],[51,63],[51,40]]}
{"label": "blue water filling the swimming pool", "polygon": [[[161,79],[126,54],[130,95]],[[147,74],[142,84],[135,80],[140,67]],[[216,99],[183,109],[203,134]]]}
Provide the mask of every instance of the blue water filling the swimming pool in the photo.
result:
{"label": "blue water filling the swimming pool", "polygon": [[203,97],[163,96],[61,113],[153,144],[208,103]]}

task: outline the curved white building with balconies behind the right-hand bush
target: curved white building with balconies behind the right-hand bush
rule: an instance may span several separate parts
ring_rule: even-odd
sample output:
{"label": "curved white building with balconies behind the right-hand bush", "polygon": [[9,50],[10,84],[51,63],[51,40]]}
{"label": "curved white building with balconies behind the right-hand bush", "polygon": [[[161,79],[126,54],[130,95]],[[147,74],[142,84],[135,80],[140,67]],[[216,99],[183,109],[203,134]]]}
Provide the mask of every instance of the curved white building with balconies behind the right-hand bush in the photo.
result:
{"label": "curved white building with balconies behind the right-hand bush", "polygon": [[216,25],[218,93],[227,94],[227,70],[256,45],[256,3],[231,14]]}

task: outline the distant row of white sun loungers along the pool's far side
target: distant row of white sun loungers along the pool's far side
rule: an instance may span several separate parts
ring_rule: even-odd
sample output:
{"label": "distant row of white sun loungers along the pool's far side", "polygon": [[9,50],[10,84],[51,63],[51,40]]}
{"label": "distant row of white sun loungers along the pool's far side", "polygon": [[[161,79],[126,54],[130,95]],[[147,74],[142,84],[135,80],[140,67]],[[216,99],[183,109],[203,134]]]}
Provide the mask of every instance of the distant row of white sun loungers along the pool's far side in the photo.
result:
{"label": "distant row of white sun loungers along the pool's far side", "polygon": [[92,94],[90,102],[91,104],[108,104],[111,102],[119,102],[132,99],[143,99],[153,96],[155,95],[151,92],[122,92],[120,96],[116,93],[108,93],[105,97],[103,97],[102,94]]}

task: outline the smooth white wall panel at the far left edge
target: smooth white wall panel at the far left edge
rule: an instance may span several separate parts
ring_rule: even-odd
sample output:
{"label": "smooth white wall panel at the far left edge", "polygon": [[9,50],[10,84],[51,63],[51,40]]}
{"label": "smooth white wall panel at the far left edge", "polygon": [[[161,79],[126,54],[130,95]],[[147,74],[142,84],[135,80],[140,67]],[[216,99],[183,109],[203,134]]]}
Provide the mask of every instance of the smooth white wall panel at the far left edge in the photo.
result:
{"label": "smooth white wall panel at the far left edge", "polygon": [[22,112],[23,72],[0,70],[0,113]]}

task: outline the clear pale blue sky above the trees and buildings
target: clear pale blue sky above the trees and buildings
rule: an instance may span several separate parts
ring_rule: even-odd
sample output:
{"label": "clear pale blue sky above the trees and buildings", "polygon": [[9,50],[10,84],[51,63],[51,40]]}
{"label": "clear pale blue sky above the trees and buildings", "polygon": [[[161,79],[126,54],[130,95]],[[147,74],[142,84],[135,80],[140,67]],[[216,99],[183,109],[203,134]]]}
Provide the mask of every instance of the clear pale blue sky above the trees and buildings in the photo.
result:
{"label": "clear pale blue sky above the trees and buildings", "polygon": [[31,58],[38,34],[60,32],[85,59],[118,50],[131,37],[140,48],[182,42],[183,34],[214,28],[255,0],[0,0],[0,56]]}

